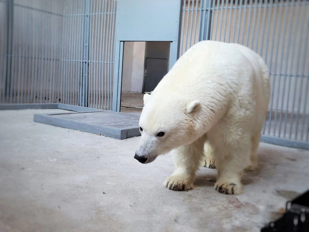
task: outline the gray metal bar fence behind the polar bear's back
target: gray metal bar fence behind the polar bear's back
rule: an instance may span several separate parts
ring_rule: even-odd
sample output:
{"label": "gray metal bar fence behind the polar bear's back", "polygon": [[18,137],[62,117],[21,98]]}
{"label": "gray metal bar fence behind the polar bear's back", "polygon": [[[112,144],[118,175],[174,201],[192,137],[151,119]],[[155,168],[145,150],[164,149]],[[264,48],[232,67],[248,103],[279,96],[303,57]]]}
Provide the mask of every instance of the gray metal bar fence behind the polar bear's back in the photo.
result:
{"label": "gray metal bar fence behind the polar bear's back", "polygon": [[207,39],[256,51],[269,67],[272,87],[262,140],[308,148],[309,1],[182,2],[180,55]]}

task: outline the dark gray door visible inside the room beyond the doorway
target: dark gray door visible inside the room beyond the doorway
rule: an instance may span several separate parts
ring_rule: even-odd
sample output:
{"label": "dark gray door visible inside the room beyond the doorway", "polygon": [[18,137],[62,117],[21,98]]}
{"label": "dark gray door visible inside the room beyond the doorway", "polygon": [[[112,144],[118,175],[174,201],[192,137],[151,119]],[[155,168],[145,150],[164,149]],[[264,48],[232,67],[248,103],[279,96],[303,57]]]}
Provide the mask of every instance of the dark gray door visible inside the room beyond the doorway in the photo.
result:
{"label": "dark gray door visible inside the room beyond the doorway", "polygon": [[167,74],[167,59],[145,58],[144,92],[152,92]]}

